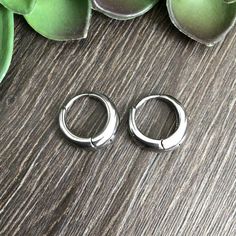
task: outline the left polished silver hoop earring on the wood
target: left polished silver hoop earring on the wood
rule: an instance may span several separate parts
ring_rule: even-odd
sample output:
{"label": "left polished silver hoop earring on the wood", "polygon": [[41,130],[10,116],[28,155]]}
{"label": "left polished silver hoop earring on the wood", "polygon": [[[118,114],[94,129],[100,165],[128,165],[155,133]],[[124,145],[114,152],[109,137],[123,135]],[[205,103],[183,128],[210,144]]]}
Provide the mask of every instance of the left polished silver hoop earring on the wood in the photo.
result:
{"label": "left polished silver hoop earring on the wood", "polygon": [[[106,108],[107,122],[103,130],[95,137],[90,137],[90,138],[78,137],[68,129],[68,126],[66,124],[66,117],[70,108],[73,106],[75,101],[83,97],[89,97],[95,99],[101,102]],[[73,141],[74,143],[78,144],[81,147],[95,150],[104,148],[113,142],[119,123],[120,123],[119,115],[115,105],[109,100],[109,98],[99,93],[84,93],[74,97],[64,107],[61,108],[59,115],[60,128],[69,140]]]}

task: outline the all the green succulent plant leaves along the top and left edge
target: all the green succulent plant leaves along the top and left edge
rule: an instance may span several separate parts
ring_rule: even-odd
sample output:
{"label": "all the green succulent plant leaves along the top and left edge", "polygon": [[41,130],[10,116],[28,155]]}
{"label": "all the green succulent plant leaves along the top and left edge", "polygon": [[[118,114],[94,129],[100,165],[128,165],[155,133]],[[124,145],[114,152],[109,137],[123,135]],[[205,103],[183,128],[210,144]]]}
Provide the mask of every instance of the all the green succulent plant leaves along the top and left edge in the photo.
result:
{"label": "all the green succulent plant leaves along the top and left edge", "polygon": [[[13,13],[52,40],[85,38],[92,9],[118,20],[149,11],[159,0],[0,0],[0,82],[10,65]],[[173,24],[190,38],[213,46],[222,41],[236,22],[236,0],[166,0]]]}

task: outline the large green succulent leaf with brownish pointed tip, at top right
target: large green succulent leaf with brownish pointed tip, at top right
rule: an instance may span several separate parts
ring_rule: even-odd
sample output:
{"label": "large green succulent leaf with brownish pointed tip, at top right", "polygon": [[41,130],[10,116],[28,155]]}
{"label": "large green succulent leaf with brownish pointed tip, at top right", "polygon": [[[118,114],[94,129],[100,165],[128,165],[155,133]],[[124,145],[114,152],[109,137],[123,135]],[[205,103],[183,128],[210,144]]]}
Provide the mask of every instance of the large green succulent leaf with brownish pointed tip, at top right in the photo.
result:
{"label": "large green succulent leaf with brownish pointed tip, at top right", "polygon": [[223,40],[236,18],[236,4],[223,0],[167,0],[167,7],[181,32],[207,46]]}

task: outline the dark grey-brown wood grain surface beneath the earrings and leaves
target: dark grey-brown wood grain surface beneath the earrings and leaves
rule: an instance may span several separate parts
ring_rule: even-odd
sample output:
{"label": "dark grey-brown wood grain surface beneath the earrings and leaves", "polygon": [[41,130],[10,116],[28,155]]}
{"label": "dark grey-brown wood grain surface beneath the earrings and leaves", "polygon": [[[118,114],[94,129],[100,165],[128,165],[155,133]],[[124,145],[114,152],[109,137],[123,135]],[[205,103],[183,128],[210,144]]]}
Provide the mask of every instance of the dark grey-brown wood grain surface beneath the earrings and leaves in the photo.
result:
{"label": "dark grey-brown wood grain surface beneath the earrings and leaves", "polygon": [[[128,22],[95,13],[88,38],[67,43],[16,17],[15,37],[0,86],[0,235],[236,235],[235,30],[206,48],[158,6]],[[120,113],[114,145],[100,152],[81,150],[58,127],[60,106],[84,91],[106,94]],[[129,107],[153,93],[186,107],[179,150],[142,150],[128,135]],[[173,127],[160,103],[138,120],[152,137]],[[104,121],[90,100],[69,119],[82,135]]]}

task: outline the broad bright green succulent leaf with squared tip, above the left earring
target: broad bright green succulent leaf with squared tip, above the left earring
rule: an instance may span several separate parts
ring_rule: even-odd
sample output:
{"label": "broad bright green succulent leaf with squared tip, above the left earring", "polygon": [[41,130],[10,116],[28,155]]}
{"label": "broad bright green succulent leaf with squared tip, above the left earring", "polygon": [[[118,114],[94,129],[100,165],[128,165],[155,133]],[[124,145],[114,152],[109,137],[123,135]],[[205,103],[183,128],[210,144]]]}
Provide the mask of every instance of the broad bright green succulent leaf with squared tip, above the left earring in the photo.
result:
{"label": "broad bright green succulent leaf with squared tip, above the left earring", "polygon": [[90,0],[38,0],[25,19],[44,37],[66,41],[86,38],[90,16]]}

